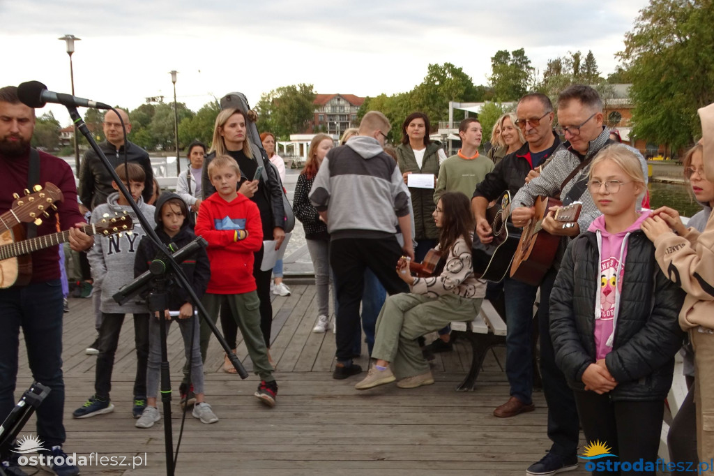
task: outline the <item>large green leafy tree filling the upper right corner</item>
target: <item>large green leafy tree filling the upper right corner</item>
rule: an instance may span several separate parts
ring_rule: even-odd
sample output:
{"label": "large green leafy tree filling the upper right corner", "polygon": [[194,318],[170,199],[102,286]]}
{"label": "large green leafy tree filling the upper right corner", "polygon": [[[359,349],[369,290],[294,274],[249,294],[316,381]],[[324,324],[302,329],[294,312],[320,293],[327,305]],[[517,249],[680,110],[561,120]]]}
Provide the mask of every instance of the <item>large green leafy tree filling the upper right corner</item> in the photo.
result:
{"label": "large green leafy tree filling the upper right corner", "polygon": [[632,80],[633,135],[679,149],[700,134],[714,101],[712,0],[650,0],[616,56]]}

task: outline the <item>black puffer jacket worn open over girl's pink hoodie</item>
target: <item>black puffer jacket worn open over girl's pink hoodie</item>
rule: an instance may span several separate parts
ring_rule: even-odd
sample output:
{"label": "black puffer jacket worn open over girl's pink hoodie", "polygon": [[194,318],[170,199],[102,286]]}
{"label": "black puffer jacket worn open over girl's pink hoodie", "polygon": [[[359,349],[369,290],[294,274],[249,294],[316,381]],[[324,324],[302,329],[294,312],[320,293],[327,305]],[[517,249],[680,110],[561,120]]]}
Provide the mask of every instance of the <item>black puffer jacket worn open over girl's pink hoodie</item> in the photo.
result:
{"label": "black puffer jacket worn open over girl's pink hoodie", "polygon": [[[660,271],[655,250],[640,230],[630,234],[613,350],[605,357],[618,386],[610,400],[660,400],[672,385],[674,356],[682,347],[678,314],[683,291]],[[595,298],[600,262],[595,233],[573,239],[550,293],[550,337],[555,363],[573,390],[595,363]]]}

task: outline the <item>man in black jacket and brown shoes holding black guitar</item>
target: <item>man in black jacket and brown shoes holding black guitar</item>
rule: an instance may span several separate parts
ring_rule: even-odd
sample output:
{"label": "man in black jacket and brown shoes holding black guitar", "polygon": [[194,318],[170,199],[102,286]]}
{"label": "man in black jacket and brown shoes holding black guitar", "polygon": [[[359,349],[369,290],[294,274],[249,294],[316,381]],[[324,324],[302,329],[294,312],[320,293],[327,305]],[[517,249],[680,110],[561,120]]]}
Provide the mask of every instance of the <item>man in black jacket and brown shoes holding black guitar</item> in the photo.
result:
{"label": "man in black jacket and brown shoes holding black guitar", "polygon": [[[518,151],[503,157],[493,172],[486,175],[476,186],[471,200],[471,209],[476,217],[476,233],[481,242],[493,240],[491,224],[486,220],[488,203],[501,197],[508,190],[511,197],[523,187],[528,174],[542,165],[560,146],[560,139],[553,134],[553,104],[548,96],[539,93],[526,94],[518,101],[518,120],[526,137],[526,144]],[[533,346],[531,344],[533,302],[537,286],[515,279],[504,280],[506,294],[506,376],[511,385],[511,398],[496,408],[493,415],[508,418],[522,412],[533,411]]]}

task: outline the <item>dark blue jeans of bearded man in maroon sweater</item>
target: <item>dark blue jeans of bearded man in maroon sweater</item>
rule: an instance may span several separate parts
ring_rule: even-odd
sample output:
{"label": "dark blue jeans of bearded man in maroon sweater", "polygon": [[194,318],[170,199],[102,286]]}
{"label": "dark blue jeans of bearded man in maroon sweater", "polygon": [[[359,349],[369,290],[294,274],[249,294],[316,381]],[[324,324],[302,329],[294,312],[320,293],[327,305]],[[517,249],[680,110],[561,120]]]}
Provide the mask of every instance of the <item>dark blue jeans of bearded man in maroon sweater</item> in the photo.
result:
{"label": "dark blue jeans of bearded man in maroon sweater", "polygon": [[[20,327],[32,377],[51,388],[37,408],[37,436],[47,447],[65,440],[60,279],[0,289],[0,419],[15,407]],[[24,391],[25,389],[23,389]]]}

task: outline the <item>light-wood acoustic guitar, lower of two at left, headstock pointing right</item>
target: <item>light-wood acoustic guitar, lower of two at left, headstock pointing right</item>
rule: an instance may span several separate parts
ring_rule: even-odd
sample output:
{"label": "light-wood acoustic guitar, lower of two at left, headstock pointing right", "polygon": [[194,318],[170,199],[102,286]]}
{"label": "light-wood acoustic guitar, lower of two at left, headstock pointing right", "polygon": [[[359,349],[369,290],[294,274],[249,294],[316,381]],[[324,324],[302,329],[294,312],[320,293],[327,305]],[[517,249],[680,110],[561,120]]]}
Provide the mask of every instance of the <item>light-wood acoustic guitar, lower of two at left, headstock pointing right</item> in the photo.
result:
{"label": "light-wood acoustic guitar, lower of two at left, headstock pointing right", "polygon": [[[84,234],[103,234],[108,236],[134,229],[134,222],[128,213],[114,218],[104,218],[95,224],[88,224],[79,230]],[[53,234],[44,234],[31,239],[24,237],[21,226],[8,230],[0,235],[0,289],[6,289],[14,284],[27,284],[32,277],[31,252],[53,247],[69,241],[69,230]]]}

